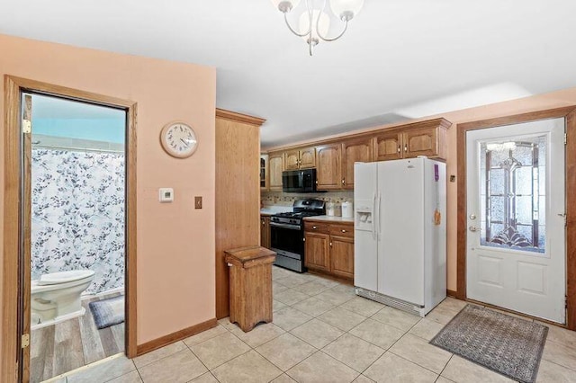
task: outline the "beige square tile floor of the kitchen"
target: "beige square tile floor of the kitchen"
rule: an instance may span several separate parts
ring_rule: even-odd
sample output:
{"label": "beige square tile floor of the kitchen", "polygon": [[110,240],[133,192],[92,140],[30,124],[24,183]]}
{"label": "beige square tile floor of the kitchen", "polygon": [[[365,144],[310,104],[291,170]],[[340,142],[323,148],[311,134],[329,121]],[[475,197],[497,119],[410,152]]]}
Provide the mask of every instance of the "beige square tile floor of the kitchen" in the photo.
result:
{"label": "beige square tile floor of the kitchen", "polygon": [[[426,318],[356,297],[350,286],[274,268],[274,323],[243,333],[222,319],[134,360],[102,361],[64,382],[504,382],[428,344],[465,303]],[[551,327],[538,382],[576,382],[576,333]]]}

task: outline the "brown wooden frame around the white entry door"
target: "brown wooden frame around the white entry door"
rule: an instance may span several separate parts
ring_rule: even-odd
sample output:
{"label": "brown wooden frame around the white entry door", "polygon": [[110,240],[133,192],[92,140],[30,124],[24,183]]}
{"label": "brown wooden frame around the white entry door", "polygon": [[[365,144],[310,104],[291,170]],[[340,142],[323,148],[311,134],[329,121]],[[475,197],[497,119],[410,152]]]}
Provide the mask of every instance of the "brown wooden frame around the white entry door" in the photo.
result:
{"label": "brown wooden frame around the white entry door", "polygon": [[[576,105],[531,111],[456,125],[457,147],[457,285],[456,298],[466,300],[466,132],[535,120],[566,119],[565,189],[576,189]],[[576,330],[576,194],[566,192],[566,325]]]}

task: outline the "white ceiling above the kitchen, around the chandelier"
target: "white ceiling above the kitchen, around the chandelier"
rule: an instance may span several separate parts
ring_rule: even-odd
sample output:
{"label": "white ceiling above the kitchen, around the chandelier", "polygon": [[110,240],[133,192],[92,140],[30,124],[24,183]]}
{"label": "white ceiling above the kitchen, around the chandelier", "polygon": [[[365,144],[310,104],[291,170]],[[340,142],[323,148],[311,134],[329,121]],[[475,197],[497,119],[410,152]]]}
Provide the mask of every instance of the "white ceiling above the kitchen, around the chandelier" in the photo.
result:
{"label": "white ceiling above the kitchen, around the chandelier", "polygon": [[216,67],[217,106],[265,118],[271,147],[575,86],[574,14],[574,0],[365,0],[313,57],[269,0],[2,0],[0,33]]}

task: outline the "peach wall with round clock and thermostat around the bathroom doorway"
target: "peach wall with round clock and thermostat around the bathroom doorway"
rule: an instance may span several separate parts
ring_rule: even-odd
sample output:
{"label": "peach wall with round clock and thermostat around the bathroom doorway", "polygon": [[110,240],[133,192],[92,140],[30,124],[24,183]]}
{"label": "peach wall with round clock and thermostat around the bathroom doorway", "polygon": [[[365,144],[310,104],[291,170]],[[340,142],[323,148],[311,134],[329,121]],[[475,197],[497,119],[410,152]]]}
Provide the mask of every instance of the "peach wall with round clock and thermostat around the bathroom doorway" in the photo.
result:
{"label": "peach wall with round clock and thermostat around the bathroom doorway", "polygon": [[[138,102],[138,343],[213,318],[215,69],[5,35],[0,51],[1,76]],[[171,120],[193,125],[200,142],[192,157],[175,159],[160,147],[160,129]],[[175,201],[158,203],[159,187],[173,187]],[[193,209],[194,196],[203,197],[203,209]],[[0,233],[3,203],[0,156]]]}

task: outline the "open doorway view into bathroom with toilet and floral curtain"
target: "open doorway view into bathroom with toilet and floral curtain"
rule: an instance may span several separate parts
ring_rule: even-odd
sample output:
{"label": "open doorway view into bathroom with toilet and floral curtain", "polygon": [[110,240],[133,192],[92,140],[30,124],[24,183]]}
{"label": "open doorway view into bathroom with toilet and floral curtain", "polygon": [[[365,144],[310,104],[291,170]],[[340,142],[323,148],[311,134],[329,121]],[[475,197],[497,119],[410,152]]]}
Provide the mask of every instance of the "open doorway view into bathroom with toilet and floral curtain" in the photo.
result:
{"label": "open doorway view into bathroom with toilet and floral curtain", "polygon": [[24,93],[23,101],[32,126],[31,146],[23,146],[30,380],[40,382],[124,352],[127,116],[42,94]]}

